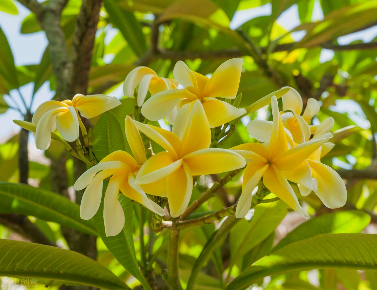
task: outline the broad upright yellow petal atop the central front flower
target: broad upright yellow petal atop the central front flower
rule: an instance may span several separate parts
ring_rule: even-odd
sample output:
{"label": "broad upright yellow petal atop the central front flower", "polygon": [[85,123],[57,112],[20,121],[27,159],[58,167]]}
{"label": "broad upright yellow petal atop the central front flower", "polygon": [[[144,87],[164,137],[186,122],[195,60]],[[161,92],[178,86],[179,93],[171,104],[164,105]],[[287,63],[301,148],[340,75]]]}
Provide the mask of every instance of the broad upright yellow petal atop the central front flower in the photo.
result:
{"label": "broad upright yellow petal atop the central front flower", "polygon": [[206,149],[211,144],[211,130],[202,104],[197,100],[183,129],[180,156]]}

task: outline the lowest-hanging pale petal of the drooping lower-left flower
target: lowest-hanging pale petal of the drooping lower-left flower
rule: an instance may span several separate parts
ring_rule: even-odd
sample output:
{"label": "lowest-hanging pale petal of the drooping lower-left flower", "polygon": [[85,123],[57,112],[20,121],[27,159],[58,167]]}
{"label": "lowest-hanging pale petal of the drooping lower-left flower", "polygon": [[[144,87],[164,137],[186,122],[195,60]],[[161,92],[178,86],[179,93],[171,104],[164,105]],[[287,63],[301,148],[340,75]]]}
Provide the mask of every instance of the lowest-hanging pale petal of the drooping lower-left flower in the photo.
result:
{"label": "lowest-hanging pale petal of the drooping lower-left flower", "polygon": [[103,201],[103,222],[106,237],[119,234],[124,227],[124,212],[118,201],[120,184],[123,179],[124,177],[122,175],[112,176],[106,188]]}

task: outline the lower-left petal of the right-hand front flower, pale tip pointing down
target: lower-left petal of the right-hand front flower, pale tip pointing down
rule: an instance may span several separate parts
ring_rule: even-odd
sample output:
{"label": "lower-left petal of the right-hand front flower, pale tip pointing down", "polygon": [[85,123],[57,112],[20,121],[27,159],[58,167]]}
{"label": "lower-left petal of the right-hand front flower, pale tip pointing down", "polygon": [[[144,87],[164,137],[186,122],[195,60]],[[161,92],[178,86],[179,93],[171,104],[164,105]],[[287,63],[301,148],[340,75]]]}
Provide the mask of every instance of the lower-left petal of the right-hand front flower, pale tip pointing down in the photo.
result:
{"label": "lower-left petal of the right-hand front flower, pale tip pointing down", "polygon": [[236,207],[238,219],[246,216],[251,207],[251,199],[254,188],[268,168],[263,162],[249,162],[246,166],[244,179],[242,181],[242,193]]}

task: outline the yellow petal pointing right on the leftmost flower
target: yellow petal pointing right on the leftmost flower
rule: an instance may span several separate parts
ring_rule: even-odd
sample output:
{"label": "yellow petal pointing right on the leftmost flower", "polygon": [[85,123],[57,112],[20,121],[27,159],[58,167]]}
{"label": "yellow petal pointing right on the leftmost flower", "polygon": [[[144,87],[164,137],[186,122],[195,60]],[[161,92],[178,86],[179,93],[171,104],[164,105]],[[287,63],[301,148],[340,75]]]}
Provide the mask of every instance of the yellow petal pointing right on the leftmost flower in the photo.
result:
{"label": "yellow petal pointing right on the leftmost flower", "polygon": [[121,104],[116,97],[105,95],[74,96],[72,106],[78,109],[84,118],[90,119],[109,111]]}

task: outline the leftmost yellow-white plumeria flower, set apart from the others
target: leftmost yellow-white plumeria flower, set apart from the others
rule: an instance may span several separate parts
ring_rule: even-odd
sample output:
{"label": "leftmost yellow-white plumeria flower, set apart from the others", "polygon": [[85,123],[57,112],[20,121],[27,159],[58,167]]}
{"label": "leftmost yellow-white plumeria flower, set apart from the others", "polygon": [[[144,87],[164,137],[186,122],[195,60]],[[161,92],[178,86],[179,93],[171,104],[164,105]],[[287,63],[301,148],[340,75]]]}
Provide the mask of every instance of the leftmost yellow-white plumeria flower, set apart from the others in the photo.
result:
{"label": "leftmost yellow-white plumeria flower, set apart from the others", "polygon": [[82,94],[76,94],[72,100],[44,102],[35,110],[31,120],[37,126],[35,146],[46,150],[51,143],[51,132],[56,129],[64,140],[75,141],[79,133],[78,111],[85,118],[93,118],[120,104],[116,97]]}

